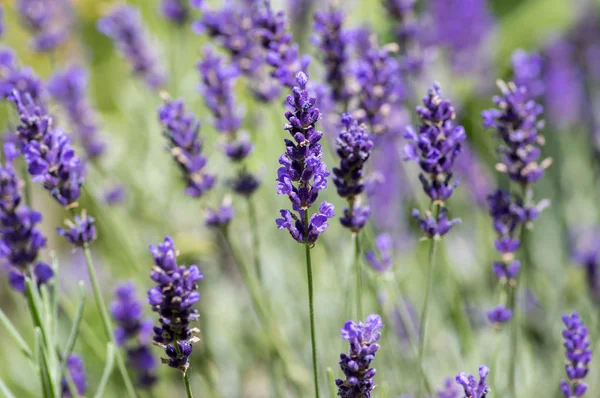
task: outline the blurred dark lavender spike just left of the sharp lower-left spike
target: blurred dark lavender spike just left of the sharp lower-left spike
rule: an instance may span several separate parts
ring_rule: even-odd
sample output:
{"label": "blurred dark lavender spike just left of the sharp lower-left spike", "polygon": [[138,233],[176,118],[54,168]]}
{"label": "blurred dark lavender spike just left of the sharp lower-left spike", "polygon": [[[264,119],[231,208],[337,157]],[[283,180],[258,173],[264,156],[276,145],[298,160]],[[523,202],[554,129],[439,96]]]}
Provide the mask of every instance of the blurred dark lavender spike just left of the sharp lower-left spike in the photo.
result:
{"label": "blurred dark lavender spike just left of the sharp lower-left spike", "polygon": [[150,349],[152,321],[142,318],[142,304],[135,296],[133,283],[117,285],[110,312],[117,324],[115,340],[127,349],[129,366],[137,375],[138,385],[151,388],[156,382],[156,361]]}

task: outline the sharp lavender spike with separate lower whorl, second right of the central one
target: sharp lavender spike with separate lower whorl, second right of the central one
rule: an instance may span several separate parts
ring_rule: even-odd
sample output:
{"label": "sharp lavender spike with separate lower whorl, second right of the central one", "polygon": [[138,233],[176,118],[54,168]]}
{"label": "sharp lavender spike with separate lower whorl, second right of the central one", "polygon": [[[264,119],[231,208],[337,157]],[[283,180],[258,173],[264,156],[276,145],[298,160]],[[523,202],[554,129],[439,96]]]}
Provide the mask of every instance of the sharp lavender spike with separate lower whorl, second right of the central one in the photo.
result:
{"label": "sharp lavender spike with separate lower whorl, second right of the central one", "polygon": [[467,136],[462,126],[454,125],[454,107],[441,97],[438,85],[429,90],[423,105],[417,107],[421,122],[418,131],[412,127],[406,130],[405,138],[409,143],[404,147],[404,154],[407,160],[419,164],[422,170],[419,179],[425,194],[434,206],[441,207],[435,215],[428,211],[421,217],[418,210],[413,210],[413,216],[419,219],[419,227],[427,238],[439,238],[459,222],[448,219],[444,203],[458,186],[458,181],[452,181],[452,170]]}

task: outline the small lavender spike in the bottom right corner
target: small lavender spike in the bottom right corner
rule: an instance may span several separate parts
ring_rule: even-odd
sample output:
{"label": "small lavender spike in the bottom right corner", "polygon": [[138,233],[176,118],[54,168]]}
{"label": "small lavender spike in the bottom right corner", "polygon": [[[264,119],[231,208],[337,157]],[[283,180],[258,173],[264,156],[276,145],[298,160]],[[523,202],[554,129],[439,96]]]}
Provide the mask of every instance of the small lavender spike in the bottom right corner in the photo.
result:
{"label": "small lavender spike in the bottom right corner", "polygon": [[584,326],[579,314],[573,312],[570,316],[563,315],[565,329],[562,332],[567,364],[565,371],[568,381],[560,382],[560,389],[565,398],[582,397],[587,391],[583,379],[589,372],[592,361],[592,350],[588,329]]}

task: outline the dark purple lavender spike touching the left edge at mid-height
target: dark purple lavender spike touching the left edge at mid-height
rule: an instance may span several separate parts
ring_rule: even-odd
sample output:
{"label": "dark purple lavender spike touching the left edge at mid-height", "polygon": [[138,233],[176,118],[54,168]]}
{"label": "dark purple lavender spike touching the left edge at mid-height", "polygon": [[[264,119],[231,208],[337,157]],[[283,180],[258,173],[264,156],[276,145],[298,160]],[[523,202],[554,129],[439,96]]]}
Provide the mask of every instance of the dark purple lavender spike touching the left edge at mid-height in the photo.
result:
{"label": "dark purple lavender spike touching the left edge at mid-height", "polygon": [[21,205],[20,182],[12,164],[18,155],[13,144],[4,145],[6,163],[0,167],[0,257],[10,266],[11,287],[24,292],[28,267],[32,267],[38,284],[48,282],[54,272],[49,265],[36,263],[40,249],[46,247],[46,238],[36,227],[42,215]]}

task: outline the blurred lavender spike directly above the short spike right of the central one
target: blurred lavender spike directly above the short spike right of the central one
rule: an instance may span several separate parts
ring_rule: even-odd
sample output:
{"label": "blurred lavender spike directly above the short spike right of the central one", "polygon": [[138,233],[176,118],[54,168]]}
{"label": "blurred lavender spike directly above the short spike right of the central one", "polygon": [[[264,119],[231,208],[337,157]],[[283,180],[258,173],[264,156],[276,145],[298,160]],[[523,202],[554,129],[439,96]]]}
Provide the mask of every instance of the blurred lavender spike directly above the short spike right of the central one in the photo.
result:
{"label": "blurred lavender spike directly above the short spike right of the central one", "polygon": [[353,68],[354,78],[360,87],[358,110],[354,113],[359,123],[365,123],[375,134],[384,134],[389,129],[393,106],[404,98],[400,64],[394,58],[396,44],[370,48],[360,54]]}

